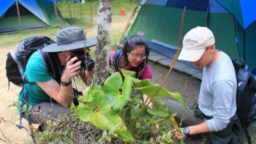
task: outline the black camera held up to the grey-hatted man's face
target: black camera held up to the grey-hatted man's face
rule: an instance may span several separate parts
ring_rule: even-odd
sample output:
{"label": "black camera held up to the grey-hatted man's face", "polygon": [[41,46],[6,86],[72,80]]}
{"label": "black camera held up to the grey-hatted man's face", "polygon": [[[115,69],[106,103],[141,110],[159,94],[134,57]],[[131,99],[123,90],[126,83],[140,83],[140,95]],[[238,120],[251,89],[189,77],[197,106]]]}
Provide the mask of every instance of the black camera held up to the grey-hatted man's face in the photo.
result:
{"label": "black camera held up to the grey-hatted man's face", "polygon": [[[73,53],[74,53],[74,56],[77,56],[78,58],[77,61],[82,62],[81,67],[84,70],[92,70],[94,68],[94,61],[92,60],[89,52],[86,52],[86,58],[85,58],[84,51],[74,51]],[[75,61],[74,63],[76,63],[77,61]]]}

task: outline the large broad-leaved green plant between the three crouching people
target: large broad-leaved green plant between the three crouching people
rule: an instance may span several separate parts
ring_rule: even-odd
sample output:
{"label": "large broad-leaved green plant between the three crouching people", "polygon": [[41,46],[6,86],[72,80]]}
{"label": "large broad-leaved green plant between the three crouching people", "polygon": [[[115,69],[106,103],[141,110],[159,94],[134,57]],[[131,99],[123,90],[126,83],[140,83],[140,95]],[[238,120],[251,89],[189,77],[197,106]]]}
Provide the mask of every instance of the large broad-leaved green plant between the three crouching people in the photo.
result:
{"label": "large broad-leaved green plant between the three crouching people", "polygon": [[[92,84],[84,91],[84,96],[79,97],[79,106],[77,106],[76,114],[85,122],[92,122],[93,125],[99,127],[103,132],[101,140],[111,141],[111,138],[122,138],[124,141],[134,141],[133,136],[138,135],[143,140],[148,138],[148,133],[154,127],[153,117],[161,117],[162,120],[170,122],[174,127],[178,127],[172,115],[170,115],[165,104],[159,100],[159,97],[168,96],[184,103],[179,93],[168,92],[159,84],[154,84],[147,80],[141,81],[134,78],[134,73],[127,70],[115,72],[108,79],[104,85],[99,86]],[[132,86],[136,84],[134,90],[140,92],[131,99]],[[159,93],[156,93],[159,90]],[[141,93],[145,93],[154,104],[154,108],[147,108],[143,110],[145,103],[141,101]],[[73,108],[74,109],[74,108]],[[143,115],[140,113],[143,112]],[[132,125],[131,129],[127,129],[125,125],[132,124],[132,120],[140,119]],[[142,123],[141,123],[142,122]],[[146,127],[146,129],[142,129]],[[149,128],[148,128],[149,127]],[[140,131],[142,130],[142,131]],[[132,133],[135,132],[136,134]],[[170,134],[164,133],[156,141],[170,142]],[[138,139],[136,139],[138,140]],[[139,139],[141,140],[141,139]]]}

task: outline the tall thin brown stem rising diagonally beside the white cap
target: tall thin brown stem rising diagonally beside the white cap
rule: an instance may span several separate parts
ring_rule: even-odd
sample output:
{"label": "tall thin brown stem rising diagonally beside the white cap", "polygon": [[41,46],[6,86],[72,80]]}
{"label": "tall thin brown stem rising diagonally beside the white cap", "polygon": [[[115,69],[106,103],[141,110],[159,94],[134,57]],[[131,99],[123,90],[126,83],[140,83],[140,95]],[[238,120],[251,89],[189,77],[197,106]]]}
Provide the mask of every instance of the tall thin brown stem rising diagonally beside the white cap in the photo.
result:
{"label": "tall thin brown stem rising diagonally beside the white cap", "polygon": [[[184,17],[185,17],[185,12],[186,12],[186,6],[184,7],[183,9],[183,12],[182,12],[182,18],[181,18],[181,24],[180,24],[180,33],[179,33],[179,40],[178,40],[178,46],[177,46],[177,51],[174,55],[174,58],[172,60],[172,65],[169,69],[169,71],[167,72],[167,74],[164,76],[164,80],[162,81],[162,83],[160,84],[158,90],[156,91],[156,93],[154,93],[154,95],[152,96],[151,99],[154,99],[154,97],[157,95],[157,93],[160,92],[161,90],[161,87],[163,86],[163,84],[165,83],[167,77],[170,75],[170,73],[172,72],[172,68],[174,67],[174,63],[175,61],[177,60],[177,56],[179,54],[179,51],[180,51],[180,44],[181,44],[181,38],[182,38],[182,33],[183,33],[183,25],[184,25]],[[145,102],[147,102],[148,104],[150,103],[150,100],[148,100],[149,98],[147,97],[147,99],[145,100]],[[140,112],[136,115],[136,117],[132,120],[132,123],[128,126],[128,129],[131,131],[132,129],[132,126],[138,122],[138,119],[141,117],[142,113],[145,111],[145,108],[146,108],[147,104],[143,104]]]}

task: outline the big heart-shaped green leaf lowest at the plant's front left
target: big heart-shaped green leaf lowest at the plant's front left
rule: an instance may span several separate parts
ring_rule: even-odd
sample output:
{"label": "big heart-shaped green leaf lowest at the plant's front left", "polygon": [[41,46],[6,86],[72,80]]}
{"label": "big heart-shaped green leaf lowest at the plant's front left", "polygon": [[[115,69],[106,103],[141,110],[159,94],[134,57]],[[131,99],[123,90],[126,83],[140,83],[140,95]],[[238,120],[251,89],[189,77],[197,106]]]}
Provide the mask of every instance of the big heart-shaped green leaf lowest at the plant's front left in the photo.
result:
{"label": "big heart-shaped green leaf lowest at the plant's front left", "polygon": [[[113,88],[113,91],[108,92],[115,92],[115,88]],[[123,124],[122,118],[120,118],[118,113],[115,113],[111,109],[115,104],[111,104],[100,86],[96,84],[91,85],[86,88],[85,93],[87,95],[84,95],[84,99],[80,99],[81,102],[76,109],[79,118],[85,122],[92,122],[93,125],[99,127],[103,131],[110,131],[112,129],[114,136],[117,136],[115,134],[118,134],[118,136],[124,138],[125,141],[133,141],[131,133],[127,131],[127,128]],[[83,102],[88,104],[84,104]],[[115,129],[113,129],[113,127],[115,127]]]}

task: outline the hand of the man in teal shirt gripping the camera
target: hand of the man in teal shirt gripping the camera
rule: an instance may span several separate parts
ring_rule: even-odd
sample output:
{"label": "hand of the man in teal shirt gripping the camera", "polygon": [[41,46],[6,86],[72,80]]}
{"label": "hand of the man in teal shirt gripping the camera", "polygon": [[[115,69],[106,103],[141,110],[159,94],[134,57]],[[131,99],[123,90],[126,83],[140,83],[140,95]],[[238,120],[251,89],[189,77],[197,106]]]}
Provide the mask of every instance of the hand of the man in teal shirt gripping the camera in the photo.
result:
{"label": "hand of the man in teal shirt gripping the camera", "polygon": [[65,70],[61,76],[61,81],[69,82],[72,77],[76,76],[80,72],[81,61],[77,61],[78,58],[75,56],[67,61]]}

